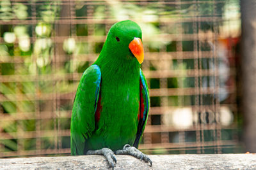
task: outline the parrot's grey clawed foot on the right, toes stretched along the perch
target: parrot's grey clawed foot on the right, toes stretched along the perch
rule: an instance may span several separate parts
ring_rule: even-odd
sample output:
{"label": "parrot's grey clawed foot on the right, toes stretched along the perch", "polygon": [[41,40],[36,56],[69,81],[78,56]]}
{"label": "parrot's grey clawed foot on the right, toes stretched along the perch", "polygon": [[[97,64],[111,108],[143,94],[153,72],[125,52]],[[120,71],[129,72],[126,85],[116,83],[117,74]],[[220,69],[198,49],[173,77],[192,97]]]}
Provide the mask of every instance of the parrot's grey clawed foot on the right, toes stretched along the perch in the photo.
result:
{"label": "parrot's grey clawed foot on the right, toes stretched along the perch", "polygon": [[150,166],[152,166],[152,160],[145,155],[144,153],[140,152],[137,148],[130,146],[129,144],[124,145],[123,150],[116,150],[116,155],[132,155],[140,160],[144,160],[145,162],[149,162]]}

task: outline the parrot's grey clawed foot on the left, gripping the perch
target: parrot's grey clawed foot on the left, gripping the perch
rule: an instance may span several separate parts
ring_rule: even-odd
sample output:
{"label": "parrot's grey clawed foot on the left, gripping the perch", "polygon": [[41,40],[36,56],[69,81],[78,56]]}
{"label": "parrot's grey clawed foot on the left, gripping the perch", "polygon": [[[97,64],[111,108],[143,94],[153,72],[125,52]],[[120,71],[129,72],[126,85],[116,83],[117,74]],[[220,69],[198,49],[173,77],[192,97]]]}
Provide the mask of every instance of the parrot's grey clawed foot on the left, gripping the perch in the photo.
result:
{"label": "parrot's grey clawed foot on the left, gripping the perch", "polygon": [[109,165],[112,167],[112,169],[114,169],[114,161],[116,163],[116,157],[114,152],[109,148],[102,148],[101,150],[88,150],[86,155],[104,155],[104,157],[106,157],[108,160]]}

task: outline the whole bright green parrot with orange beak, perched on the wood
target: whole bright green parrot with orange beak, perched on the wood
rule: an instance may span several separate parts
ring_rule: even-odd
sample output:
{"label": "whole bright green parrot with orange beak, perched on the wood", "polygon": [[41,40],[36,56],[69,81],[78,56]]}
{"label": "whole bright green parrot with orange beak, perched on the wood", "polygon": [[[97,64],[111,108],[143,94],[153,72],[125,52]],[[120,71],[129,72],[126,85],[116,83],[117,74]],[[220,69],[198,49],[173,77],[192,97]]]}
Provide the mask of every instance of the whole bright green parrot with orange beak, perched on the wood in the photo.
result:
{"label": "whole bright green parrot with orange beak, perched on the wood", "polygon": [[150,162],[137,148],[149,110],[141,29],[131,20],[109,29],[98,59],[77,87],[71,118],[72,155],[104,155],[114,168],[115,154]]}

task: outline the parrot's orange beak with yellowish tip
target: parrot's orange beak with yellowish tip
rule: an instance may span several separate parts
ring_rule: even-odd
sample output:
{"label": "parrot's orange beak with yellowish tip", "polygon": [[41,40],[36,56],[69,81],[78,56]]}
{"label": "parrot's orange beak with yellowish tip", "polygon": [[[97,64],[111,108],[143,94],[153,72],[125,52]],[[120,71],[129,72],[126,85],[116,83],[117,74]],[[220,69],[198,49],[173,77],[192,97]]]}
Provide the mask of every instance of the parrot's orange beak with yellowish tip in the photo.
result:
{"label": "parrot's orange beak with yellowish tip", "polygon": [[144,60],[144,49],[140,38],[134,38],[129,44],[129,48],[140,64]]}

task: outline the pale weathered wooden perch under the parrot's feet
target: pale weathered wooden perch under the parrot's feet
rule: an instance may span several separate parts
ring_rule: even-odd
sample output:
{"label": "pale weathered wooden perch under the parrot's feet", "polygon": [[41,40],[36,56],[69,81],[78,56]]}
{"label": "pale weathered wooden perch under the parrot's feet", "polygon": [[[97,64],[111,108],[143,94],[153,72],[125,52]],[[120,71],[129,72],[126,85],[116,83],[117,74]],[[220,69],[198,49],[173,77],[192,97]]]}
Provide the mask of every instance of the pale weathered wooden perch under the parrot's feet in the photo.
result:
{"label": "pale weathered wooden perch under the parrot's feet", "polygon": [[[149,155],[152,167],[129,155],[116,155],[115,169],[256,169],[256,154]],[[0,169],[106,169],[103,156],[0,159]]]}

